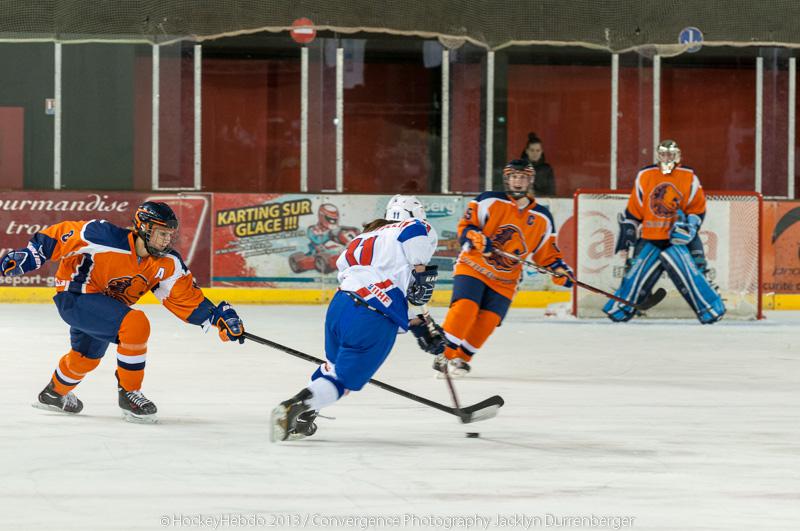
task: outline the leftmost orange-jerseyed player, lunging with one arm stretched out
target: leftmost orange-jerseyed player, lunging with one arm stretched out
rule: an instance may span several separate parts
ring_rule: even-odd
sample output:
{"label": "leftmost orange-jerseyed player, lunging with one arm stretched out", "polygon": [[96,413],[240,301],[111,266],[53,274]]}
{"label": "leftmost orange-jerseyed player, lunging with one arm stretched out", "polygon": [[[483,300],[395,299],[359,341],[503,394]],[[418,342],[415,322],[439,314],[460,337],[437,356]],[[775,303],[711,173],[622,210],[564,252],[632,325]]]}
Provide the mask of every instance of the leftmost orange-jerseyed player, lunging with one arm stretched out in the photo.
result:
{"label": "leftmost orange-jerseyed player, lunging with one arm stretched out", "polygon": [[70,325],[71,349],[58,362],[36,407],[79,413],[72,390],[117,344],[119,406],[126,420],[155,422],[157,408],[141,392],[150,323],[131,308],[153,294],[180,319],[219,329],[223,341],[244,342],[244,325],[226,302],[214,305],[172,249],[178,219],[166,203],[147,201],[136,210],[133,228],[107,221],[65,221],[34,234],[24,249],[0,261],[4,276],[22,275],[47,260],[60,260],[54,301]]}

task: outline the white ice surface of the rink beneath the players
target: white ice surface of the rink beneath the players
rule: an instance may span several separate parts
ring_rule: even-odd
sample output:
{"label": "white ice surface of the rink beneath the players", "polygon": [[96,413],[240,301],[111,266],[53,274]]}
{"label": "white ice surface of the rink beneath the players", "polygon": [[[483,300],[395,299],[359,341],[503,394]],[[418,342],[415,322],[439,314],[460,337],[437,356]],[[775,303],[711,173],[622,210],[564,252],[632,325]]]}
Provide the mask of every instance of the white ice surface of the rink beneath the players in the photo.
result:
{"label": "white ice surface of the rink beneath the players", "polygon": [[[456,382],[467,404],[502,395],[497,418],[464,426],[368,386],[314,437],[270,444],[270,409],[314,367],[140,308],[157,425],[121,420],[113,345],[77,388],[83,413],[32,408],[68,329],[52,305],[0,306],[0,529],[209,529],[199,518],[220,515],[218,529],[380,528],[370,516],[400,519],[383,529],[457,529],[461,516],[489,529],[800,529],[799,313],[704,327],[512,309]],[[238,310],[248,331],[323,355],[324,307]],[[430,364],[401,336],[376,378],[448,403]],[[347,516],[362,519],[333,520]],[[587,520],[602,516],[632,525]]]}

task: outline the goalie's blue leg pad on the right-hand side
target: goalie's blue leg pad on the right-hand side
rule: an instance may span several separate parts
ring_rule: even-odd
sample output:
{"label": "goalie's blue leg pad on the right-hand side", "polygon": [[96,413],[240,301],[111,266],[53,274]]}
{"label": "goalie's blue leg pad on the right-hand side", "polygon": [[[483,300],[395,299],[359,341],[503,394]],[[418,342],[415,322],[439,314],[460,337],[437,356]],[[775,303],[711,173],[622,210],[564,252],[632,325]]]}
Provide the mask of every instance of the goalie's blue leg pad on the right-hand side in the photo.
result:
{"label": "goalie's blue leg pad on the right-hand side", "polygon": [[692,307],[701,323],[711,324],[722,319],[725,315],[722,297],[697,268],[691,252],[685,245],[673,245],[665,249],[660,259],[673,284]]}

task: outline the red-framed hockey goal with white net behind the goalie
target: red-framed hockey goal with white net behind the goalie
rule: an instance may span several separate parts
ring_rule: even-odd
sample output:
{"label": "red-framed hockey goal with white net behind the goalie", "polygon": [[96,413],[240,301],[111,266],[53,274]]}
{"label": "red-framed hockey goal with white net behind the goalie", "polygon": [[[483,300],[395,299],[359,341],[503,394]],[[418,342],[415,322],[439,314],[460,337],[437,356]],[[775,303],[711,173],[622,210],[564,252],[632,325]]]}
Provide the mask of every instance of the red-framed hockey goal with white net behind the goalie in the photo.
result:
{"label": "red-framed hockey goal with white net behind the goalie", "polygon": [[[625,274],[623,253],[614,254],[619,225],[630,192],[578,190],[575,193],[575,271],[578,280],[615,292]],[[756,192],[706,192],[700,238],[708,260],[708,278],[718,287],[726,319],[760,319],[762,198]],[[694,318],[694,312],[666,274],[655,289],[666,298],[646,312],[650,318]],[[578,317],[605,317],[602,295],[576,288],[573,312]]]}

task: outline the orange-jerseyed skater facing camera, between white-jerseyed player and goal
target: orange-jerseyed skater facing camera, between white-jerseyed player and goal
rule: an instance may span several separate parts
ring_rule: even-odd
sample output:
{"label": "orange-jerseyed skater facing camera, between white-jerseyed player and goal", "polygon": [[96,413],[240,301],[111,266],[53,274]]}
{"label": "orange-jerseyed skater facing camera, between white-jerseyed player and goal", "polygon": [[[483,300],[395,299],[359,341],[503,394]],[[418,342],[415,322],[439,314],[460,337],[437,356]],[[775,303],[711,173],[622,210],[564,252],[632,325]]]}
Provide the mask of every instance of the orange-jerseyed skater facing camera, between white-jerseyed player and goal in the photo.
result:
{"label": "orange-jerseyed skater facing camera, between white-jerseyed player and goal", "polygon": [[[553,282],[572,286],[572,269],[556,245],[550,211],[531,193],[534,170],[527,160],[503,169],[505,192],[484,192],[467,206],[458,224],[462,251],[453,273],[453,296],[442,323],[446,348],[433,368],[459,376],[508,312],[522,276],[521,260],[533,260],[563,276]],[[514,260],[493,250],[516,255]]]}

